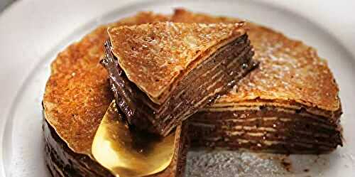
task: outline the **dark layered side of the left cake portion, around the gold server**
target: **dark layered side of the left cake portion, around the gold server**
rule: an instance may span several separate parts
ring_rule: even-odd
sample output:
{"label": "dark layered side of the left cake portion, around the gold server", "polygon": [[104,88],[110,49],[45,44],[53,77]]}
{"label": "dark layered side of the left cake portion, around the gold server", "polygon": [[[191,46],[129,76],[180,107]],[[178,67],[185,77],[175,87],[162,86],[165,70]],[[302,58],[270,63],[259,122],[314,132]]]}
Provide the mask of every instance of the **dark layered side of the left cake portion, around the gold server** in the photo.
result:
{"label": "dark layered side of the left cake portion, around the gold server", "polygon": [[[102,167],[89,156],[77,154],[72,151],[65,141],[62,141],[53,127],[48,122],[43,122],[45,136],[45,163],[53,177],[82,177],[103,176],[114,177],[106,168]],[[188,149],[187,126],[182,126],[178,151],[175,151],[174,159],[170,166],[151,177],[182,176],[185,171],[185,161]]]}

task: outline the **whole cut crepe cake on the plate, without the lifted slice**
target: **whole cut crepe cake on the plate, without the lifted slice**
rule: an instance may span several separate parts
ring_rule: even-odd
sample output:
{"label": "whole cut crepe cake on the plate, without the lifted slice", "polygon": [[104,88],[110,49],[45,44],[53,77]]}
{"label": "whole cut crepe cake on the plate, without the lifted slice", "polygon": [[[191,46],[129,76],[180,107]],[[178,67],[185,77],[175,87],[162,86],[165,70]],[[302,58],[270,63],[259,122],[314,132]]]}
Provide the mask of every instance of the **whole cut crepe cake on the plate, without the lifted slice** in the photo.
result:
{"label": "whole cut crepe cake on the plate, without the lifted slice", "polygon": [[[117,55],[119,53],[109,55],[110,51],[115,51],[111,50],[112,43],[107,43],[105,54],[107,28],[129,29],[132,27],[119,26],[163,21],[236,24],[240,20],[193,14],[183,9],[176,10],[172,16],[142,12],[118,23],[100,26],[59,53],[51,65],[43,98],[45,159],[52,176],[114,176],[92,156],[92,141],[111,101],[116,98],[120,104],[123,98],[118,92],[111,92],[115,82],[107,79],[113,77],[99,63],[105,55],[111,59],[121,56]],[[228,93],[219,92],[221,96],[214,102],[204,102],[204,107],[182,122],[188,114],[197,111],[185,110],[185,116],[173,123],[177,134],[173,159],[163,171],[150,176],[182,176],[189,137],[197,147],[275,153],[324,153],[342,145],[339,89],[327,63],[318,57],[315,49],[300,41],[253,23],[246,26],[255,52],[253,58],[260,63],[258,68],[234,83]],[[237,36],[241,37],[242,33]],[[240,79],[236,78],[236,81]],[[170,94],[162,95],[158,90],[162,97],[154,97],[156,95],[147,90],[144,92],[142,85],[132,84],[132,80],[124,81],[133,85],[129,92],[143,95],[143,100],[154,102],[152,105],[160,103],[163,95]],[[121,109],[125,107],[122,103]],[[139,113],[141,107],[135,107],[136,103],[130,107],[136,111],[131,112],[126,107],[123,112],[116,112],[116,117],[140,127],[140,121],[134,123],[136,118],[127,117],[130,112],[145,113]],[[155,107],[144,109],[152,108]],[[141,128],[153,127],[151,132],[164,135],[173,127],[165,124],[163,127],[168,128],[161,129],[161,124],[155,127],[154,119],[144,121]]]}

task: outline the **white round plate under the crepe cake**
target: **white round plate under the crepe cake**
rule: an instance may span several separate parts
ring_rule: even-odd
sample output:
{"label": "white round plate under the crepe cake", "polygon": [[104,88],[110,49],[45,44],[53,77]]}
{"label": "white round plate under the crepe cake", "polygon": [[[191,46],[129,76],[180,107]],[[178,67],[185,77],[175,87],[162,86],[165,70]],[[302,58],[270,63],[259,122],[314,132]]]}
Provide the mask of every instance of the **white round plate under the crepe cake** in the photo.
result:
{"label": "white round plate under the crepe cake", "polygon": [[[16,1],[0,15],[0,176],[48,176],[40,102],[56,53],[99,24],[142,10],[171,13],[174,7],[247,18],[315,46],[329,61],[344,109],[345,145],[332,154],[287,157],[192,152],[187,176],[355,176],[355,18],[349,15],[351,6],[354,3],[342,1]],[[283,161],[290,161],[290,171]]]}

